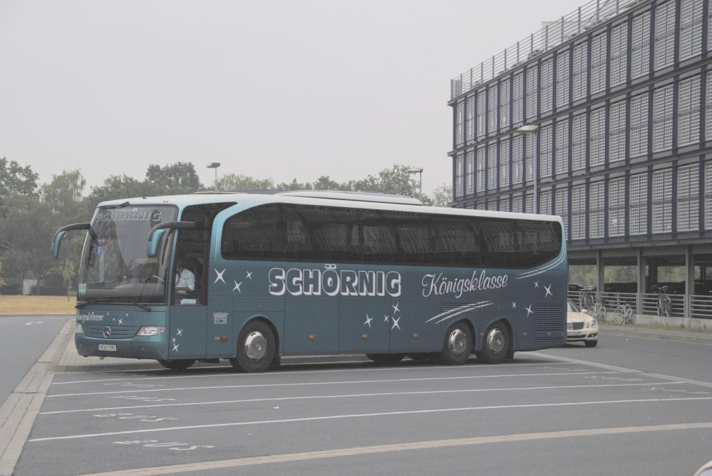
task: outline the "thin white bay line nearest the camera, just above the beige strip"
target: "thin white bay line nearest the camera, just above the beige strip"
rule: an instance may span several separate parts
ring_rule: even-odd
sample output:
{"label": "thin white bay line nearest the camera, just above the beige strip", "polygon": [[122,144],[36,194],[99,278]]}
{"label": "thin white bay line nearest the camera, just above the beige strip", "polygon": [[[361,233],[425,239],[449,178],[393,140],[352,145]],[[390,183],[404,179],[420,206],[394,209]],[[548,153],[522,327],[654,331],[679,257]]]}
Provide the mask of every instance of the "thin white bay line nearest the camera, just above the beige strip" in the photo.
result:
{"label": "thin white bay line nearest the camera, just above the beige strip", "polygon": [[355,413],[347,415],[332,415],[332,416],[313,416],[305,418],[283,418],[279,420],[263,420],[263,421],[239,421],[232,423],[212,423],[205,425],[186,425],[174,426],[168,428],[152,428],[142,430],[125,430],[125,431],[110,431],[106,433],[87,433],[84,435],[65,435],[65,436],[50,436],[46,438],[33,438],[27,440],[28,443],[36,443],[41,441],[53,440],[77,440],[80,438],[97,438],[100,436],[115,436],[115,435],[134,435],[137,433],[157,433],[161,431],[178,431],[178,430],[197,430],[199,428],[225,428],[231,426],[247,426],[247,425],[267,425],[271,423],[297,423],[305,421],[325,421],[325,420],[342,420],[348,418],[372,418],[384,416],[403,416],[403,415],[418,415],[425,413],[449,413],[454,411],[481,411],[481,410],[511,410],[514,408],[543,408],[543,407],[573,407],[573,406],[590,406],[604,405],[610,403],[668,403],[672,401],[703,401],[712,400],[710,397],[687,397],[687,398],[640,398],[637,400],[603,400],[603,401],[585,401],[585,402],[564,402],[564,403],[528,403],[523,405],[501,405],[501,406],[472,406],[464,408],[431,408],[429,410],[410,410],[410,411],[388,411],[382,413]]}

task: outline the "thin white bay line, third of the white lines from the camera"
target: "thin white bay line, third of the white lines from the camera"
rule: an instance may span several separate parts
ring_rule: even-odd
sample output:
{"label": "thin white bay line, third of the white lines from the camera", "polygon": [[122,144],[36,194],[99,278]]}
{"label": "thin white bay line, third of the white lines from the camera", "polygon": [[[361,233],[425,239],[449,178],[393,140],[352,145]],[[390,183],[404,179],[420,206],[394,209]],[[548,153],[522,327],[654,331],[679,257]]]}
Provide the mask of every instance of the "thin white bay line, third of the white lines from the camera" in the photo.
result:
{"label": "thin white bay line, third of the white lines from the camera", "polygon": [[88,395],[115,395],[117,393],[146,393],[184,390],[217,390],[220,388],[263,388],[263,387],[295,387],[295,386],[320,386],[320,385],[347,385],[347,384],[389,384],[398,382],[417,381],[442,381],[442,380],[471,380],[471,379],[502,379],[505,377],[541,377],[541,376],[572,376],[572,375],[595,375],[595,374],[617,374],[615,371],[605,372],[555,372],[548,374],[498,374],[498,375],[468,375],[457,377],[425,377],[422,379],[384,379],[384,380],[349,380],[349,381],[328,381],[328,382],[292,382],[288,384],[244,384],[244,385],[216,385],[200,387],[179,387],[179,388],[149,388],[147,390],[120,390],[110,392],[84,392],[84,393],[58,393],[48,395],[46,398],[62,398],[68,396],[88,396]]}

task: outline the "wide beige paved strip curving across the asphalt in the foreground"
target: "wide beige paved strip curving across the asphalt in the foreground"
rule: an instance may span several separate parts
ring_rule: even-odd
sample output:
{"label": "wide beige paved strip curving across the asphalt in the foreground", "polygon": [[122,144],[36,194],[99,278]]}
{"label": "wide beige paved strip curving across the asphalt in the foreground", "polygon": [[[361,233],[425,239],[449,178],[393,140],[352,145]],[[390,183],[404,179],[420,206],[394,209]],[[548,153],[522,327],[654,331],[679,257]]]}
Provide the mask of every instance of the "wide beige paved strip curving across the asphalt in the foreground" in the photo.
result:
{"label": "wide beige paved strip curving across the asphalt in the foreground", "polygon": [[656,431],[706,430],[712,428],[708,423],[677,423],[670,425],[625,426],[619,428],[593,428],[590,430],[563,430],[543,433],[519,433],[513,435],[480,436],[473,438],[456,438],[451,440],[418,441],[414,443],[394,443],[390,445],[360,446],[340,448],[336,450],[308,451],[303,453],[286,453],[282,455],[256,456],[252,458],[236,458],[232,460],[193,462],[182,465],[160,467],[144,467],[132,470],[96,472],[82,476],[152,476],[176,472],[194,472],[218,470],[231,467],[265,465],[281,462],[320,460],[324,458],[343,458],[346,456],[374,455],[377,453],[394,453],[397,451],[420,451],[454,446],[482,445],[491,443],[512,443],[517,441],[550,440],[555,438],[580,438],[586,436],[620,435],[626,433],[649,433]]}

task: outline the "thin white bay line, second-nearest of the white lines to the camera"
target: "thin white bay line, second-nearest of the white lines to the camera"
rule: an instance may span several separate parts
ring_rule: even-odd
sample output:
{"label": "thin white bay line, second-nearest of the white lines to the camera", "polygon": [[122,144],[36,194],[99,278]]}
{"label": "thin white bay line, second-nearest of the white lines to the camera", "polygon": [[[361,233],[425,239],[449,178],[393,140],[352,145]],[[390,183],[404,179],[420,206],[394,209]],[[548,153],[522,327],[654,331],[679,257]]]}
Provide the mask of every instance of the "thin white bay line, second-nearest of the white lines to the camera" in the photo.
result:
{"label": "thin white bay line, second-nearest of the white lines to the camera", "polygon": [[646,385],[676,385],[684,382],[644,382],[642,384],[598,384],[598,385],[562,385],[562,386],[542,386],[542,387],[515,387],[515,388],[468,388],[466,390],[433,390],[433,391],[412,391],[412,392],[384,392],[384,393],[355,393],[350,395],[318,395],[318,396],[298,396],[298,397],[275,397],[275,398],[248,398],[244,400],[223,400],[204,401],[192,403],[159,403],[157,405],[135,405],[117,406],[108,408],[78,408],[75,410],[43,411],[40,415],[57,415],[61,413],[82,413],[91,411],[128,410],[137,408],[157,408],[173,406],[201,406],[201,405],[226,405],[230,403],[253,403],[268,401],[293,401],[293,400],[313,400],[320,398],[358,398],[372,396],[406,396],[406,395],[429,395],[433,393],[471,393],[471,392],[495,392],[495,391],[533,391],[533,390],[561,390],[563,388],[602,388],[602,387],[631,387]]}

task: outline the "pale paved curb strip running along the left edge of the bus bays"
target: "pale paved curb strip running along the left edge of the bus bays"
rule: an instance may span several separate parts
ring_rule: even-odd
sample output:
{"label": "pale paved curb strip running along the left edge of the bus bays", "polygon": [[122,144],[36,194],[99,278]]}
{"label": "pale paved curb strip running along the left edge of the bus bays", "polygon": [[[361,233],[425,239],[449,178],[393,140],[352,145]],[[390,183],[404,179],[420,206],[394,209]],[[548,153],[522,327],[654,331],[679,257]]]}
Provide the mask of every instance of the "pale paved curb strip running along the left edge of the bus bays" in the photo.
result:
{"label": "pale paved curb strip running along the left edge of the bus bays", "polygon": [[73,334],[73,327],[74,319],[64,324],[44,354],[0,407],[1,476],[10,476],[15,469],[54,378],[53,366],[61,358],[66,342]]}

